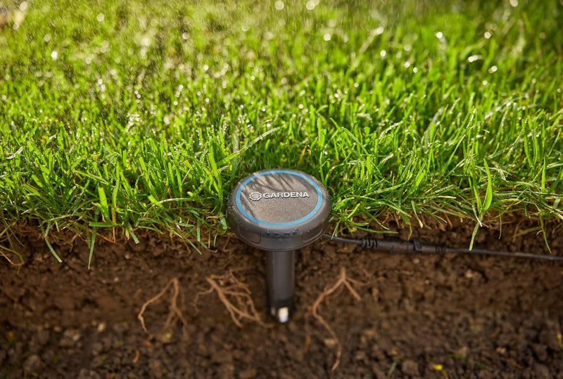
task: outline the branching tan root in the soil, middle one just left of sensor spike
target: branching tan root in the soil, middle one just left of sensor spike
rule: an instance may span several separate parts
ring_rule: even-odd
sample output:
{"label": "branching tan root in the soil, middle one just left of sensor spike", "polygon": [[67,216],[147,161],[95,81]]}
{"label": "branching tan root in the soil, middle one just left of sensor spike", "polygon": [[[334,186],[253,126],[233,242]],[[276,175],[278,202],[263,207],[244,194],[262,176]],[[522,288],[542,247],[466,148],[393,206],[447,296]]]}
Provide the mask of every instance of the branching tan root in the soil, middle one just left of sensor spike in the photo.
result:
{"label": "branching tan root in the soil, middle one just left of sensor spike", "polygon": [[248,285],[239,281],[233,274],[232,270],[229,270],[227,274],[218,276],[211,275],[205,278],[205,281],[209,283],[210,288],[203,292],[196,294],[194,299],[194,306],[197,309],[197,302],[200,296],[208,295],[215,291],[217,297],[227,308],[231,318],[239,328],[242,328],[242,319],[247,319],[259,323],[261,326],[271,327],[271,325],[264,323],[260,319],[260,314],[256,311],[254,306],[254,301],[251,297],[251,290]]}

